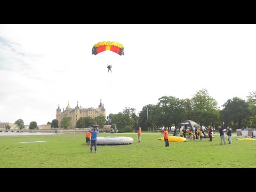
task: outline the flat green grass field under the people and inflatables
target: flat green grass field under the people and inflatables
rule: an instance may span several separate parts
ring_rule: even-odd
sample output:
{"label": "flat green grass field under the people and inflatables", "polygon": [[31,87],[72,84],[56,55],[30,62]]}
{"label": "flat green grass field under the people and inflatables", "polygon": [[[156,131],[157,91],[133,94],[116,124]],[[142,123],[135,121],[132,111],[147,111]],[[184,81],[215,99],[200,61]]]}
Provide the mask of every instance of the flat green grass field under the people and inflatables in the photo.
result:
{"label": "flat green grass field under the people and inflatables", "polygon": [[[90,153],[85,134],[0,136],[0,167],[256,167],[256,141],[220,145],[220,136],[209,139],[170,142],[154,140],[161,134],[105,134],[98,137],[132,137],[130,145],[100,146]],[[20,143],[30,141],[49,141]]]}

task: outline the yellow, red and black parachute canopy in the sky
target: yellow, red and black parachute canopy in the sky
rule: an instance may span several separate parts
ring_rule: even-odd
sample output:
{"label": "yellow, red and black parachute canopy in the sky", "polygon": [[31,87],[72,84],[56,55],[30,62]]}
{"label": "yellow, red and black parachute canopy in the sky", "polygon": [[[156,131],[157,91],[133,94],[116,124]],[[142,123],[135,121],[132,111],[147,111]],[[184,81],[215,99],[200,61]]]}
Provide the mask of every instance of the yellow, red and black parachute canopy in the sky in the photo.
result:
{"label": "yellow, red and black parachute canopy in the sky", "polygon": [[113,51],[119,55],[124,55],[124,46],[117,42],[99,42],[92,47],[92,54],[97,55],[103,51]]}

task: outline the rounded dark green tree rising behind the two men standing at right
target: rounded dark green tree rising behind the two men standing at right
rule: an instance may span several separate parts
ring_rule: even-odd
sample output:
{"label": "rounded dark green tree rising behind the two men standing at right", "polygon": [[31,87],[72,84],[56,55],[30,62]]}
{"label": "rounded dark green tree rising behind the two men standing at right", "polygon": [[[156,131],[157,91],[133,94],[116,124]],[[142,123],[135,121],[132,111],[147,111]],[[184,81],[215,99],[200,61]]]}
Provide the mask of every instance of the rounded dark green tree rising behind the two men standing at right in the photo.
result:
{"label": "rounded dark green tree rising behind the two men standing at right", "polygon": [[249,120],[252,115],[249,103],[238,97],[228,99],[223,107],[221,110],[223,121],[235,125],[235,129],[237,127],[240,129],[242,121]]}

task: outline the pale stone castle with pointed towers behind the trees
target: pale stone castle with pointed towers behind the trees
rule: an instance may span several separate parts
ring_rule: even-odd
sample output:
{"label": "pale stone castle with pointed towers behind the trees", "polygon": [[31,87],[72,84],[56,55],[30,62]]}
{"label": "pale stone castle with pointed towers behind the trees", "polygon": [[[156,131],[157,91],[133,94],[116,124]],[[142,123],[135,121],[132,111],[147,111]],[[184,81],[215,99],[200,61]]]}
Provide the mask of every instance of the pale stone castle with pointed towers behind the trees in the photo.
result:
{"label": "pale stone castle with pointed towers behind the trees", "polygon": [[77,105],[75,108],[71,108],[69,106],[69,103],[66,107],[66,110],[64,110],[61,112],[60,109],[60,104],[59,107],[57,109],[57,113],[56,113],[56,119],[58,120],[59,123],[59,127],[60,127],[60,122],[62,121],[62,119],[64,117],[71,117],[71,127],[75,128],[76,127],[76,121],[80,118],[80,117],[97,117],[99,115],[102,115],[106,118],[106,109],[104,108],[104,103],[102,105],[101,103],[101,99],[100,99],[100,105],[98,106],[98,109],[94,109],[94,107],[90,107],[90,108],[83,108],[83,107],[79,107],[78,106],[78,101],[77,101]]}

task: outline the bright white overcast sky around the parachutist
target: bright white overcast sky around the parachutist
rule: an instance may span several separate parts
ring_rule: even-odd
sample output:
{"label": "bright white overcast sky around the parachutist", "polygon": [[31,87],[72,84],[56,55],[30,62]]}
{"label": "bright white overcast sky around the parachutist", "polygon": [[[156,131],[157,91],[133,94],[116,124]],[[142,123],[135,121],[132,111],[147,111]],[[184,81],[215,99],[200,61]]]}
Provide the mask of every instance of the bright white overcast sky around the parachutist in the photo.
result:
{"label": "bright white overcast sky around the parachutist", "polygon": [[[97,108],[191,99],[202,89],[221,107],[255,91],[256,25],[0,25],[0,121],[52,122],[60,105]],[[92,55],[102,41],[124,54]],[[112,65],[108,73],[107,65]]]}

